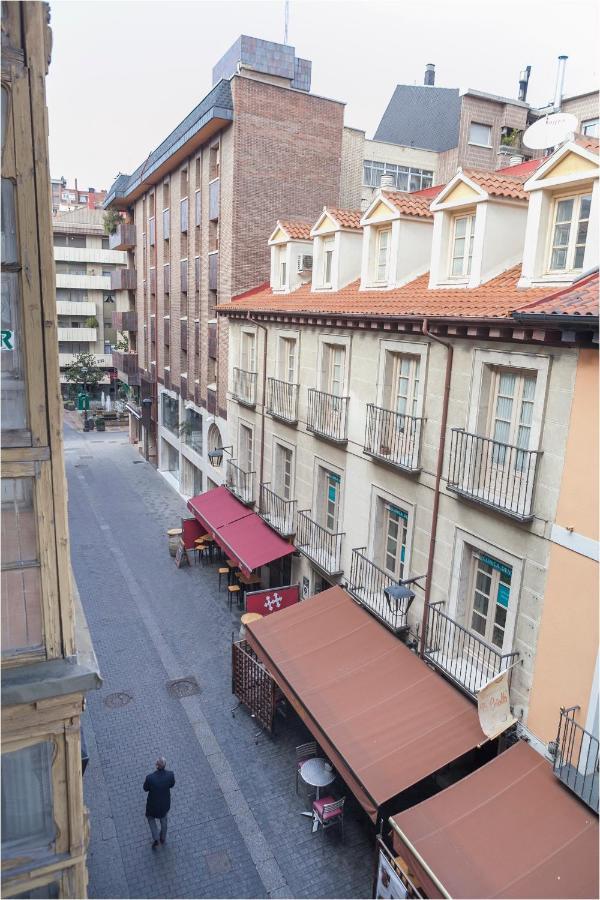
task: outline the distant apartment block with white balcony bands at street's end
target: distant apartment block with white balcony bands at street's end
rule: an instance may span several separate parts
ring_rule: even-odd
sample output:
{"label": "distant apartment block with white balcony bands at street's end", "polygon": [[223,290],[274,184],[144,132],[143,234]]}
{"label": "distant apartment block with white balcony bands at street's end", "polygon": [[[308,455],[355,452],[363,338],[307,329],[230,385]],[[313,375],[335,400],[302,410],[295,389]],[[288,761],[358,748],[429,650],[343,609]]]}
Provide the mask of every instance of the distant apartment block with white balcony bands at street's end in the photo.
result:
{"label": "distant apartment block with white balcony bands at street's end", "polygon": [[65,367],[78,353],[93,353],[106,369],[100,389],[107,391],[114,376],[112,352],[122,331],[119,316],[129,301],[126,291],[111,286],[113,272],[127,266],[127,254],[110,249],[103,219],[102,210],[81,207],[53,216],[52,230],[61,383]]}

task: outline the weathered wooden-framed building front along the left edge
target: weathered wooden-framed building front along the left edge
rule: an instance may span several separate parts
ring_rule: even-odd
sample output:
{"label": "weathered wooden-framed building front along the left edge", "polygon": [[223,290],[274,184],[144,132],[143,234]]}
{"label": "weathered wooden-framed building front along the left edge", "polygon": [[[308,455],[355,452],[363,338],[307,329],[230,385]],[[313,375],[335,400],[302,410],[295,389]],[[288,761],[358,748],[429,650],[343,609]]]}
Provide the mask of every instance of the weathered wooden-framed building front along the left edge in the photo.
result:
{"label": "weathered wooden-framed building front along the left edge", "polygon": [[74,898],[87,893],[80,718],[100,678],[69,556],[48,18],[45,3],[2,5],[2,895]]}

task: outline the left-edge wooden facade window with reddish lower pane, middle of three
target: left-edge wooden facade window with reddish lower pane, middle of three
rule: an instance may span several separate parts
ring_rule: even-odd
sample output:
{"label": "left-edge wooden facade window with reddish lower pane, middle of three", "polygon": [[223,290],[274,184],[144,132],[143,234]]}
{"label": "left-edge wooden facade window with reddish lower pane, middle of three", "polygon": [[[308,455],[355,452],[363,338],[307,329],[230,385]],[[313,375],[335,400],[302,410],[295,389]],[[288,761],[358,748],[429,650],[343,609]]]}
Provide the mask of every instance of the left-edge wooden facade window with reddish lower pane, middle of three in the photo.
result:
{"label": "left-edge wooden facade window with reddish lower pane, middle of three", "polygon": [[42,647],[33,478],[2,478],[2,656]]}

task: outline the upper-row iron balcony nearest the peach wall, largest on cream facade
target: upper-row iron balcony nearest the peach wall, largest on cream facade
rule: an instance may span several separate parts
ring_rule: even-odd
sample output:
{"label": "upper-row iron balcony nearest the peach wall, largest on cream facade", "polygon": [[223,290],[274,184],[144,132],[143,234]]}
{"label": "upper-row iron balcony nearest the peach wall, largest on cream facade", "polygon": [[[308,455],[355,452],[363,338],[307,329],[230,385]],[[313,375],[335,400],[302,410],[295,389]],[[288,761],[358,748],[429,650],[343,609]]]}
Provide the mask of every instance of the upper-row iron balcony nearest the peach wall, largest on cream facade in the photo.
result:
{"label": "upper-row iron balcony nearest the peach wall, largest on cream facade", "polygon": [[451,430],[448,490],[518,522],[533,518],[537,450]]}

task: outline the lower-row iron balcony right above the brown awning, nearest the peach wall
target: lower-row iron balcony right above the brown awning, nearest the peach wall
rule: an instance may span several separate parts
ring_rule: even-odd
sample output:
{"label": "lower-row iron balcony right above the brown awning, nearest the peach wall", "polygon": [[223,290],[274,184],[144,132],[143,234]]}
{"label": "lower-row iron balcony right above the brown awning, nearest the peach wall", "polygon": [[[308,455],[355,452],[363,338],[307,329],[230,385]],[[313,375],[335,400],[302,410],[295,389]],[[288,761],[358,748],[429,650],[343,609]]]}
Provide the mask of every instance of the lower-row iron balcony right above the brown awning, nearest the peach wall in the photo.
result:
{"label": "lower-row iron balcony right above the brown awning, nearest the peach wall", "polygon": [[508,669],[519,654],[501,653],[442,612],[442,604],[439,601],[429,606],[425,659],[471,697],[476,697],[477,691]]}

